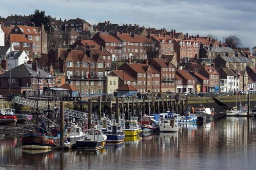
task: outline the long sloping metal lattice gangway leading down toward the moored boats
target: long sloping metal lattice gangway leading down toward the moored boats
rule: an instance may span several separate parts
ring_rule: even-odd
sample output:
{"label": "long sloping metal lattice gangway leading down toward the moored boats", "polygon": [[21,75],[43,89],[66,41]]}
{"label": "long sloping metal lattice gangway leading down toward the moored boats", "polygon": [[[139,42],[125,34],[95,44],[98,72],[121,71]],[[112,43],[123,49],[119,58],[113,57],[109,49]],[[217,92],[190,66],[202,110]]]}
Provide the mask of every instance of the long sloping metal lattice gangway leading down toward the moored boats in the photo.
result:
{"label": "long sloping metal lattice gangway leading down toward the moored boats", "polygon": [[[41,110],[48,110],[48,101],[35,101],[35,100],[30,100],[27,98],[23,98],[23,97],[19,97],[19,96],[15,96],[12,100],[12,102],[18,103],[18,104],[22,104],[22,105],[26,105],[32,108],[39,108]],[[50,105],[50,110],[54,110],[57,109],[57,113],[59,113],[59,109],[54,106],[54,105]],[[69,116],[69,117],[74,117],[74,118],[78,118],[78,119],[88,119],[88,113],[85,112],[81,112],[81,111],[77,111],[77,110],[73,110],[73,109],[64,109],[64,115],[65,116]],[[94,115],[92,114],[92,121],[94,124],[98,124],[98,115]]]}

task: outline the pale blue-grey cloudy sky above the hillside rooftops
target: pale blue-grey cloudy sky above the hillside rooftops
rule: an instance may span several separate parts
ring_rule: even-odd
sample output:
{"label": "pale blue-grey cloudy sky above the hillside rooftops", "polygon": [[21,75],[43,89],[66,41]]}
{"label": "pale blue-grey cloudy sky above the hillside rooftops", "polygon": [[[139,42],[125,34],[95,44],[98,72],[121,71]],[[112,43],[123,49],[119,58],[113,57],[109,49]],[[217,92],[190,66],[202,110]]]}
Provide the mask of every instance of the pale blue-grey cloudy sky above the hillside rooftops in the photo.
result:
{"label": "pale blue-grey cloudy sky above the hillside rooftops", "polygon": [[62,20],[80,17],[90,24],[139,24],[168,31],[238,36],[256,46],[256,0],[1,0],[0,16],[29,15],[35,9]]}

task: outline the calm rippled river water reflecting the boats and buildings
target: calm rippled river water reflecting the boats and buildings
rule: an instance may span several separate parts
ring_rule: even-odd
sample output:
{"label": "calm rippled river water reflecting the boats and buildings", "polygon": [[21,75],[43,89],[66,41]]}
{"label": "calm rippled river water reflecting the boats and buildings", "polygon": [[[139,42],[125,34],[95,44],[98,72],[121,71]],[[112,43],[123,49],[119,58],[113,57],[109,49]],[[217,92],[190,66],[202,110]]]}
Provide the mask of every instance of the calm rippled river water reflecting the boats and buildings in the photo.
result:
{"label": "calm rippled river water reflecting the boats and buildings", "polygon": [[19,137],[0,140],[0,170],[14,169],[256,170],[256,118],[181,125],[178,133],[130,137],[99,151],[33,153]]}

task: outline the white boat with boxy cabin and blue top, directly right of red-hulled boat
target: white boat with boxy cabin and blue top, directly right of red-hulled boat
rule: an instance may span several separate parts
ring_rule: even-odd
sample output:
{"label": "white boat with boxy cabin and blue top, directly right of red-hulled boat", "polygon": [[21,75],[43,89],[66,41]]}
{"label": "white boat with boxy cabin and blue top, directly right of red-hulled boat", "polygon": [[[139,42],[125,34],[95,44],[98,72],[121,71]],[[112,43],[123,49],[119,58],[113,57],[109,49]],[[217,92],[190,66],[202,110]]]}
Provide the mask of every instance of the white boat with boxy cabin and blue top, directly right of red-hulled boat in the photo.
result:
{"label": "white boat with boxy cabin and blue top, directly right of red-hulled boat", "polygon": [[178,114],[175,113],[161,113],[160,119],[160,132],[177,132],[178,131]]}

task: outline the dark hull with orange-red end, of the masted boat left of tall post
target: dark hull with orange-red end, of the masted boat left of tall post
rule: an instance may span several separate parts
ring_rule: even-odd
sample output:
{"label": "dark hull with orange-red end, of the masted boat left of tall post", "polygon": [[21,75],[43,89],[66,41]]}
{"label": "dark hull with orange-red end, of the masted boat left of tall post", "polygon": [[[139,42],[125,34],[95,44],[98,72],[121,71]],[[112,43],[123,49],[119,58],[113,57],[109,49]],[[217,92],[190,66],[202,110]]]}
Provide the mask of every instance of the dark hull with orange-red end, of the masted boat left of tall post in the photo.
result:
{"label": "dark hull with orange-red end, of the masted boat left of tall post", "polygon": [[42,134],[24,134],[22,136],[22,149],[51,149],[58,146],[59,136],[46,136]]}

